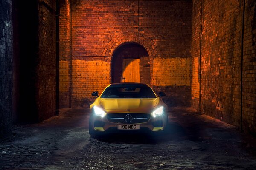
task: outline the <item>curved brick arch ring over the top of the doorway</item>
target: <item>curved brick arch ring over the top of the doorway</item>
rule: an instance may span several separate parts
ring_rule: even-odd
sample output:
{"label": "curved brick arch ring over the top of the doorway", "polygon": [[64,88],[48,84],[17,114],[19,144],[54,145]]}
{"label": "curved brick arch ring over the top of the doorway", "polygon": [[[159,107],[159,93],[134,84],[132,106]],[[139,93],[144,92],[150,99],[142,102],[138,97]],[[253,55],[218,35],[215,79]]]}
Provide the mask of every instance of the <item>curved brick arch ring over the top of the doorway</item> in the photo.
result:
{"label": "curved brick arch ring over the top of the doorway", "polygon": [[113,37],[105,47],[103,51],[103,56],[112,57],[113,53],[119,45],[122,45],[126,42],[135,42],[142,45],[148,52],[150,58],[156,56],[156,43],[148,37],[145,37],[143,34],[134,34],[131,32],[124,32]]}

